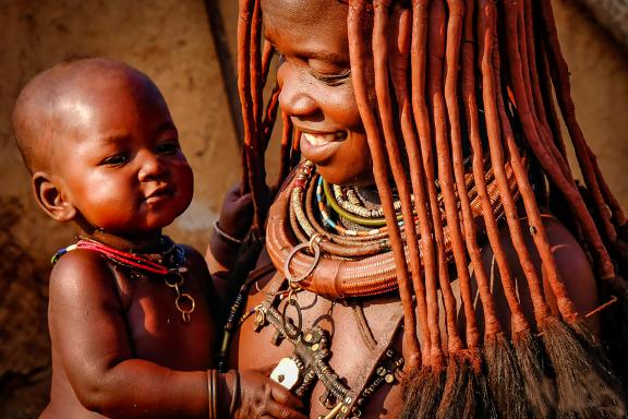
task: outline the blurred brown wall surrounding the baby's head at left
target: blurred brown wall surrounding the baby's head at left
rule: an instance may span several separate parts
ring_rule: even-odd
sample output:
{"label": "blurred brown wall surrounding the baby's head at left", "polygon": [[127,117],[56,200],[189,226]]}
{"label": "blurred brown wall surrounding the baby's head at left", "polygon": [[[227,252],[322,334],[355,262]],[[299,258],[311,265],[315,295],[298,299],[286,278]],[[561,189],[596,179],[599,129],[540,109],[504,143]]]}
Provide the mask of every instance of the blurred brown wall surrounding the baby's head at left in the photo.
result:
{"label": "blurred brown wall surrounding the baby's head at left", "polygon": [[46,403],[49,259],[74,235],[32,197],[10,127],[21,87],[74,53],[120,59],[152,77],[195,172],[194,201],[168,234],[201,250],[240,159],[203,1],[2,0],[0,27],[0,418],[17,418]]}

